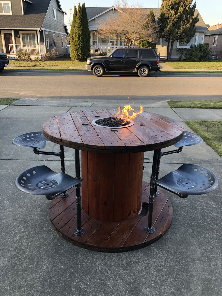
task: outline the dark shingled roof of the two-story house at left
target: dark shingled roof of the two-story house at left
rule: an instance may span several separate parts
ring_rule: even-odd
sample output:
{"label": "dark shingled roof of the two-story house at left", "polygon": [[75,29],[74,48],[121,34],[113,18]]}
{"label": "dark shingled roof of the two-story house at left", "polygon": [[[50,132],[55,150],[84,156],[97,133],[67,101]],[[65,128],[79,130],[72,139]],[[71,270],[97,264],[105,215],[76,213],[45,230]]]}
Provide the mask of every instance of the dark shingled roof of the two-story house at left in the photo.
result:
{"label": "dark shingled roof of the two-story house at left", "polygon": [[[57,1],[61,8],[59,0]],[[32,0],[32,3],[28,2],[23,15],[0,15],[0,29],[41,29],[50,2],[51,0]]]}

